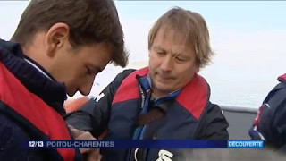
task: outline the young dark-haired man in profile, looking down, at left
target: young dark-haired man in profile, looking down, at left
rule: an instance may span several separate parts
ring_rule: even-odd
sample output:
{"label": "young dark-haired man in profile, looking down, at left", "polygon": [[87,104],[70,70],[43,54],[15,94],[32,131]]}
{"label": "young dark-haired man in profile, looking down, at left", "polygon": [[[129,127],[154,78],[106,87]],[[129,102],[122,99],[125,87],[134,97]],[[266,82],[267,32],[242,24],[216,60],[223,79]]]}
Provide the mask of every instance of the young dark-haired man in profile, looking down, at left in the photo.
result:
{"label": "young dark-haired man in profile, looking down, at left", "polygon": [[66,94],[88,95],[106,64],[127,59],[113,0],[31,0],[11,41],[0,39],[0,160],[80,160],[77,149],[22,144],[71,140]]}

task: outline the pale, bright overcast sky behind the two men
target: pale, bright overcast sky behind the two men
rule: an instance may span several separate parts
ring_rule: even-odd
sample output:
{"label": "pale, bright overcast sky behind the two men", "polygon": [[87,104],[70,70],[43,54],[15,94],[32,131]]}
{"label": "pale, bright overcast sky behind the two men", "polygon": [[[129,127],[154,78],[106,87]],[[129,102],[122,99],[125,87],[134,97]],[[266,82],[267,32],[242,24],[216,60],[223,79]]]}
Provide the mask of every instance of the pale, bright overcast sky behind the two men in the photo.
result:
{"label": "pale, bright overcast sky behind the two men", "polygon": [[[0,1],[0,38],[11,38],[27,4],[27,1]],[[130,63],[147,62],[148,30],[168,9],[180,6],[206,19],[216,53],[214,64],[202,70],[208,80],[266,86],[262,99],[266,90],[273,87],[275,78],[286,71],[286,1],[115,1],[115,4],[130,50]],[[273,84],[264,85],[266,81]]]}

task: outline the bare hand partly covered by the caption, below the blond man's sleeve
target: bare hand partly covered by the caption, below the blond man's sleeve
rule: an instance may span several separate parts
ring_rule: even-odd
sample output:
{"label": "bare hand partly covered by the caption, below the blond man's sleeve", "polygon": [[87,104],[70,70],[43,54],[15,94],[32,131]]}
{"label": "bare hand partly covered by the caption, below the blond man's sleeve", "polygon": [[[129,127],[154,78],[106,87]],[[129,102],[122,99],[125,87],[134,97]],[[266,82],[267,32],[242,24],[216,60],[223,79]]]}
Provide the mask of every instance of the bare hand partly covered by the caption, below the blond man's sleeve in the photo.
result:
{"label": "bare hand partly covered by the caption, below the blond man's sleeve", "polygon": [[[71,135],[75,140],[97,140],[88,131],[80,131],[74,129],[72,126],[69,126],[69,128],[71,130]],[[80,153],[88,154],[88,161],[99,161],[101,158],[99,148],[80,148]]]}

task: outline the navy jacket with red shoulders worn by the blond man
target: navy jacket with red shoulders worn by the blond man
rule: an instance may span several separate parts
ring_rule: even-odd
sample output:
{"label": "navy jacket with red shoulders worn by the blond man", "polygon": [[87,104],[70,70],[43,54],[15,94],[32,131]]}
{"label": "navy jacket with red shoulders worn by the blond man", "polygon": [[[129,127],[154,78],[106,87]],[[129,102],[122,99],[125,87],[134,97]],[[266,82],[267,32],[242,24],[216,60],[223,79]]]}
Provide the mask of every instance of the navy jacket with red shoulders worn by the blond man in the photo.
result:
{"label": "navy jacket with red shoulders worn by the blond man", "polygon": [[[80,111],[68,114],[66,122],[98,137],[107,129],[105,139],[228,140],[227,127],[219,106],[209,102],[209,87],[196,75],[183,89],[167,97],[150,99],[147,68],[127,70],[109,84],[101,97],[90,100]],[[149,99],[149,100],[148,100]],[[146,106],[147,105],[147,106]],[[147,123],[138,133],[139,114],[159,108],[164,117]],[[146,111],[146,112],[147,112]],[[102,149],[102,160],[156,160],[161,149]],[[168,149],[172,160],[180,152]],[[163,158],[161,158],[163,159]]]}

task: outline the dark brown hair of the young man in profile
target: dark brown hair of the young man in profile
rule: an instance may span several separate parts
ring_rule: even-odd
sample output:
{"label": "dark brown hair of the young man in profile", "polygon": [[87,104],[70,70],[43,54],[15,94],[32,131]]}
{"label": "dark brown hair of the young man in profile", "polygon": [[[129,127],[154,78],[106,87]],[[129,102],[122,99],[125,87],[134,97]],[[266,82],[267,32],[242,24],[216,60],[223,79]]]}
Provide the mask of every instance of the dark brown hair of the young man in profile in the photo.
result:
{"label": "dark brown hair of the young man in profile", "polygon": [[128,63],[113,0],[31,0],[12,40],[24,47],[38,31],[49,30],[57,22],[70,27],[72,47],[104,42],[112,49],[115,65]]}

